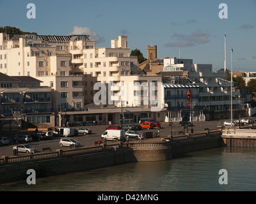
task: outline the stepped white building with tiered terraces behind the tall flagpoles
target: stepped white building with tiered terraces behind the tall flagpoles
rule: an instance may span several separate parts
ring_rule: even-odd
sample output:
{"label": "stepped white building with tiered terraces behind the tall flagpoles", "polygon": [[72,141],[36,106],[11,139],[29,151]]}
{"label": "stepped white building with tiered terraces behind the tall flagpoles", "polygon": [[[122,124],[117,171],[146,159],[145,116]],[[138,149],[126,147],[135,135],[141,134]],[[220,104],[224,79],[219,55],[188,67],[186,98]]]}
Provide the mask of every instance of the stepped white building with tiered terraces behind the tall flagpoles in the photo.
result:
{"label": "stepped white building with tiered terraces behind the tall flagpoles", "polygon": [[[164,71],[188,71],[188,77],[193,85],[199,86],[200,97],[196,106],[204,110],[205,119],[223,118],[224,112],[230,112],[231,84],[226,80],[226,73],[212,70],[212,64],[193,64],[193,59],[164,59]],[[233,88],[233,110],[239,110],[239,91]],[[173,106],[173,108],[177,105]],[[227,114],[225,115],[228,116]]]}

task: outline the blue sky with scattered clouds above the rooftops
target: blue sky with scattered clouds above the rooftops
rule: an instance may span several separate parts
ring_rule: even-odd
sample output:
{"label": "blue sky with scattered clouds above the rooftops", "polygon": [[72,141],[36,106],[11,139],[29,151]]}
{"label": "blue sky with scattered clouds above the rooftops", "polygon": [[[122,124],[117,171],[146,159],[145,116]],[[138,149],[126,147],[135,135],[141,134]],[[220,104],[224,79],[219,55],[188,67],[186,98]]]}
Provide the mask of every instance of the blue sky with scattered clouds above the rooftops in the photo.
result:
{"label": "blue sky with scattered clouds above the rooftops", "polygon": [[[36,6],[36,18],[27,18],[27,4]],[[228,6],[228,18],[219,18],[219,4]],[[38,34],[90,34],[96,47],[128,36],[128,47],[147,57],[147,45],[157,45],[157,57],[193,59],[223,68],[224,34],[227,68],[233,47],[233,71],[256,71],[255,0],[0,0],[0,26],[15,26]]]}

